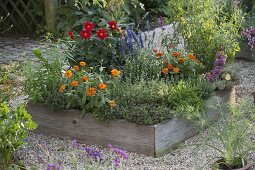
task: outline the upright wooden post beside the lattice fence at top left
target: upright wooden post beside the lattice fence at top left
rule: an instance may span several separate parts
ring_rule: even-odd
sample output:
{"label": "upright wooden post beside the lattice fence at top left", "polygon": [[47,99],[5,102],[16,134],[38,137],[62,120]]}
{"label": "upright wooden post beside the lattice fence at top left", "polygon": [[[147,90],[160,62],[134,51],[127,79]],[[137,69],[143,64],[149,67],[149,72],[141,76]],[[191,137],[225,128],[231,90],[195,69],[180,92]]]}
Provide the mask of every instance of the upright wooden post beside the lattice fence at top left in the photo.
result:
{"label": "upright wooden post beside the lattice fence at top left", "polygon": [[56,30],[58,0],[44,0],[45,20],[48,31]]}

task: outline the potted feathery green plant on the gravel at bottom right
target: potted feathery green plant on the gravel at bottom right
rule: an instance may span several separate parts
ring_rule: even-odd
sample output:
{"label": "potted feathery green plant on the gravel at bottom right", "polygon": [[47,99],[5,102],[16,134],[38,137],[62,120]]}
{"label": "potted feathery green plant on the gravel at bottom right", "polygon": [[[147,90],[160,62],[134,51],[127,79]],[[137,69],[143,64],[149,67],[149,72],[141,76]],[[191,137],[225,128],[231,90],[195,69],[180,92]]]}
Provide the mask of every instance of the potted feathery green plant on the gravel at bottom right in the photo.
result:
{"label": "potted feathery green plant on the gravel at bottom right", "polygon": [[255,149],[249,137],[254,130],[250,120],[255,112],[254,105],[242,99],[238,105],[230,104],[224,109],[218,100],[216,107],[221,110],[222,127],[209,129],[210,140],[204,143],[204,146],[220,154],[213,158],[216,161],[212,164],[212,170],[248,170],[252,165],[247,160],[247,154]]}

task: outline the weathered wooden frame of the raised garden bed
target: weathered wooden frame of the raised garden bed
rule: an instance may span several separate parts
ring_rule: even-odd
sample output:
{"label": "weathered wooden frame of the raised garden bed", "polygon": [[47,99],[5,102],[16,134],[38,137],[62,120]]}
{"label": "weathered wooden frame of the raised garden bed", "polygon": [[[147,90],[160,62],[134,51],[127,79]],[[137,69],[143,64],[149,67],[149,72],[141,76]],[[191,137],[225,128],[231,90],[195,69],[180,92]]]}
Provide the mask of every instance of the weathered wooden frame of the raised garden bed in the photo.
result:
{"label": "weathered wooden frame of the raised garden bed", "polygon": [[[235,102],[235,87],[217,91],[216,95],[223,101]],[[163,155],[185,139],[199,133],[199,128],[194,123],[179,118],[145,126],[126,120],[98,122],[90,114],[81,118],[78,110],[50,111],[47,106],[38,103],[29,103],[27,110],[38,124],[36,133],[61,139],[76,139],[86,144],[113,144],[127,151],[154,157]],[[215,120],[217,113],[217,110],[210,110],[208,120]]]}

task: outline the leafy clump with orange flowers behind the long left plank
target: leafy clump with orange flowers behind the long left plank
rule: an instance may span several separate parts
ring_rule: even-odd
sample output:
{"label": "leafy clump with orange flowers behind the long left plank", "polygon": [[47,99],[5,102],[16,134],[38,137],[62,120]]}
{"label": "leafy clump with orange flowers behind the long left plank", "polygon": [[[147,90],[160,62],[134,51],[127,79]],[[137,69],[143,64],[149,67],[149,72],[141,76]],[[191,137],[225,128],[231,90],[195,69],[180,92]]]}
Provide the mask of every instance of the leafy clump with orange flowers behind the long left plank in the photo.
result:
{"label": "leafy clump with orange flowers behind the long left plank", "polygon": [[[99,70],[99,73],[94,71],[96,69]],[[73,76],[62,78],[62,86],[65,88],[63,91],[59,90],[68,98],[65,108],[82,110],[82,114],[91,112],[98,119],[102,119],[105,110],[109,108],[108,103],[112,100],[110,92],[114,90],[115,83],[119,81],[120,77],[107,75],[102,66],[93,69],[85,66],[79,67],[78,71],[74,69],[69,69],[69,71],[72,71]],[[83,78],[86,78],[86,81]],[[78,83],[76,87],[72,86],[74,81]],[[88,93],[91,88],[93,90],[90,95]],[[101,114],[103,115],[101,116]]]}

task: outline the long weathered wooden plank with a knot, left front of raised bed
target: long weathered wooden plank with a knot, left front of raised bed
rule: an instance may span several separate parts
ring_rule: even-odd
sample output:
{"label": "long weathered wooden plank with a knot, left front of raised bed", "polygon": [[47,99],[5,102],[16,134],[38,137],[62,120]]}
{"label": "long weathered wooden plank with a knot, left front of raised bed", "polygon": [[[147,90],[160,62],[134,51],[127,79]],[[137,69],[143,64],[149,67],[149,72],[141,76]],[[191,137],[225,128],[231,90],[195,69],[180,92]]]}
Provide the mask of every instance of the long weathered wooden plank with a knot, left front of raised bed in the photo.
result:
{"label": "long weathered wooden plank with a knot, left front of raised bed", "polygon": [[142,126],[125,120],[102,123],[90,114],[81,118],[81,112],[77,110],[52,112],[43,104],[30,103],[27,109],[38,124],[38,133],[61,139],[76,139],[86,144],[113,144],[131,152],[154,155],[152,126]]}

